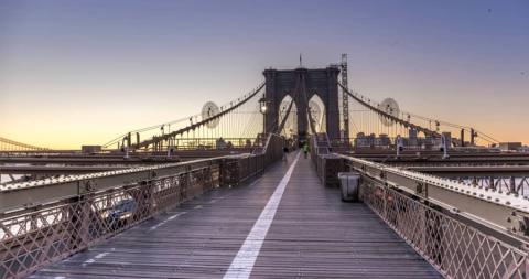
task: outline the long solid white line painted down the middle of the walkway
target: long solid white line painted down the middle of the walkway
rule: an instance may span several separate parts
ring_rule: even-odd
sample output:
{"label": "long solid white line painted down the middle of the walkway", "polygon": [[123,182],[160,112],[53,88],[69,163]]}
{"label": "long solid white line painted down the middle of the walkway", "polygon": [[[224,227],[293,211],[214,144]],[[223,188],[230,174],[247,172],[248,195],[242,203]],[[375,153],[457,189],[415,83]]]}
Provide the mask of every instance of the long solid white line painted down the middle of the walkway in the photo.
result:
{"label": "long solid white line painted down the middle of the walkway", "polygon": [[272,196],[270,196],[270,200],[268,200],[267,206],[264,206],[262,210],[261,215],[259,215],[256,224],[253,224],[253,227],[246,237],[246,240],[237,253],[237,256],[235,256],[234,260],[231,261],[229,269],[224,275],[225,279],[250,277],[251,270],[253,269],[253,265],[257,260],[257,256],[259,256],[262,243],[267,237],[268,229],[270,228],[273,217],[276,216],[276,212],[278,211],[279,203],[283,196],[284,189],[290,181],[290,176],[292,176],[292,172],[298,163],[298,159],[300,159],[300,153],[298,153],[283,179],[281,179],[281,182],[279,182],[278,187],[276,187],[276,191],[273,191]]}

